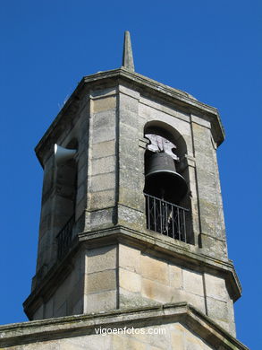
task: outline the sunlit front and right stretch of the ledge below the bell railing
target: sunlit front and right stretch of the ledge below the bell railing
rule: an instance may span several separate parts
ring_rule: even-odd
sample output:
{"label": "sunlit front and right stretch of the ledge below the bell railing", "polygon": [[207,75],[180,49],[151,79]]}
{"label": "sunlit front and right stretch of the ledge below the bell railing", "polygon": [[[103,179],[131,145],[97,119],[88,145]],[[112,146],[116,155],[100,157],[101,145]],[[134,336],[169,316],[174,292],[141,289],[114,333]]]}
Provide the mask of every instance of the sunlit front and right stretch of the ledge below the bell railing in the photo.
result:
{"label": "sunlit front and right stretch of the ledge below the bell railing", "polygon": [[232,265],[228,262],[208,257],[201,252],[194,251],[195,247],[182,241],[173,241],[155,232],[138,232],[130,228],[118,226],[96,232],[83,232],[79,234],[80,241],[86,241],[89,248],[105,245],[108,242],[121,242],[131,244],[132,247],[146,251],[151,249],[155,254],[166,254],[167,257],[183,267],[193,268],[199,272],[219,271],[225,277],[229,293],[235,302],[241,297],[241,283]]}

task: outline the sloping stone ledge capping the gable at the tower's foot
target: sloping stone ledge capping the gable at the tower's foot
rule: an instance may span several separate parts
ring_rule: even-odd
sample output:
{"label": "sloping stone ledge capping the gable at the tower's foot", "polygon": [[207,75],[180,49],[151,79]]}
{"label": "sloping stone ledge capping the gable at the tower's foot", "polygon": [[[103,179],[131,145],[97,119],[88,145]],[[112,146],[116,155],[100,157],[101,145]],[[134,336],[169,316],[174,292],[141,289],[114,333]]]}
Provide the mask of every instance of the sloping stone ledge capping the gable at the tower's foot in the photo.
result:
{"label": "sloping stone ledge capping the gable at the tower's foot", "polygon": [[[186,302],[98,312],[0,326],[0,346],[19,346],[96,334],[102,328],[143,328],[180,322],[214,348],[249,350],[201,311]],[[97,336],[98,337],[98,336]]]}

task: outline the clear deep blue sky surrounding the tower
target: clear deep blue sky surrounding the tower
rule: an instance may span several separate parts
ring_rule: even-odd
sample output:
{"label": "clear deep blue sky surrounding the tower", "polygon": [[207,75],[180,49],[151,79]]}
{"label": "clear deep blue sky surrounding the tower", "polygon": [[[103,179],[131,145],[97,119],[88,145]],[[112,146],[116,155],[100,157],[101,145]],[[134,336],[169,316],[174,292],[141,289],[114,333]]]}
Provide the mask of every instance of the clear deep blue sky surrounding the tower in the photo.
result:
{"label": "clear deep blue sky surrounding the tower", "polygon": [[42,187],[34,147],[83,75],[121,66],[123,31],[129,30],[139,74],[220,110],[228,248],[243,287],[235,304],[237,333],[252,350],[262,348],[258,3],[0,2],[0,323],[26,320],[21,303],[35,272]]}

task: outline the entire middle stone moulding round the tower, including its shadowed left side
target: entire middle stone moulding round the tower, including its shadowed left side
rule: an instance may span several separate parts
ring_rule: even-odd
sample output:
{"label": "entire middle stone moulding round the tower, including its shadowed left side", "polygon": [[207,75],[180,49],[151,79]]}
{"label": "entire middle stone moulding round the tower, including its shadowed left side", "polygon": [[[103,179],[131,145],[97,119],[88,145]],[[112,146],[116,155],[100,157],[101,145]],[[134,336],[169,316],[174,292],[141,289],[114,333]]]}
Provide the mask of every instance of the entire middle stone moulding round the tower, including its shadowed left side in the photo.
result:
{"label": "entire middle stone moulding round the tower, including its shadowed left side", "polygon": [[190,251],[186,243],[175,242],[162,235],[158,237],[158,234],[155,234],[155,232],[136,232],[122,226],[114,226],[105,230],[82,232],[79,234],[79,241],[74,241],[72,249],[63,260],[55,264],[46,277],[43,278],[41,287],[33,290],[23,303],[24,311],[29,319],[31,319],[31,315],[41,304],[42,298],[47,300],[52,293],[55,293],[55,289],[58,282],[61,282],[61,278],[65,278],[71,272],[72,258],[79,249],[93,249],[118,243],[131,244],[132,247],[143,251],[150,249],[159,258],[163,254],[164,258],[168,257],[170,261],[182,267],[193,268],[199,272],[209,271],[223,274],[233,301],[236,301],[241,296],[241,284],[232,263]]}

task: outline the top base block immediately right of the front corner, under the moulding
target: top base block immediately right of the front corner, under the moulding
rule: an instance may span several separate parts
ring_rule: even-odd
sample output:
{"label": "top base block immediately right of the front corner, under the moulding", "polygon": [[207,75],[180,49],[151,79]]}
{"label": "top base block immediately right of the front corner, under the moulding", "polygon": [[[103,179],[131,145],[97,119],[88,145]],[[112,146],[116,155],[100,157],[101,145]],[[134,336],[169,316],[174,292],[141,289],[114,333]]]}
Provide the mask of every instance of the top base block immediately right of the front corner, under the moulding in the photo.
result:
{"label": "top base block immediately right of the front corner, under the moulding", "polygon": [[119,244],[119,267],[140,273],[140,250]]}

